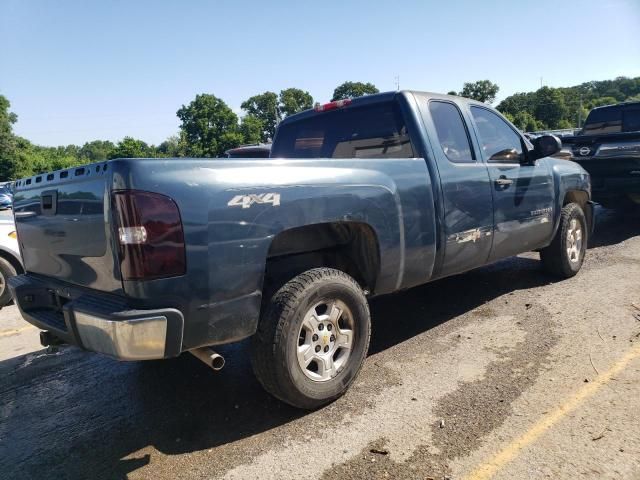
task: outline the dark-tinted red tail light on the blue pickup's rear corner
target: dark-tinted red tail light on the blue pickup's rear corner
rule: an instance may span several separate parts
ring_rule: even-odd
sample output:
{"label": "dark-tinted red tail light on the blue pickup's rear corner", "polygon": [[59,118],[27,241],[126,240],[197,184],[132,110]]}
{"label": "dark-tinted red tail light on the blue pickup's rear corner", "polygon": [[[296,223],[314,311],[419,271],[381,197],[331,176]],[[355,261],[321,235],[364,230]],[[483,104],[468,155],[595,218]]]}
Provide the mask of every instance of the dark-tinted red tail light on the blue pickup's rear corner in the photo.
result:
{"label": "dark-tinted red tail light on the blue pickup's rear corner", "polygon": [[122,278],[184,275],[184,232],[176,203],[164,195],[137,190],[116,191],[112,200]]}

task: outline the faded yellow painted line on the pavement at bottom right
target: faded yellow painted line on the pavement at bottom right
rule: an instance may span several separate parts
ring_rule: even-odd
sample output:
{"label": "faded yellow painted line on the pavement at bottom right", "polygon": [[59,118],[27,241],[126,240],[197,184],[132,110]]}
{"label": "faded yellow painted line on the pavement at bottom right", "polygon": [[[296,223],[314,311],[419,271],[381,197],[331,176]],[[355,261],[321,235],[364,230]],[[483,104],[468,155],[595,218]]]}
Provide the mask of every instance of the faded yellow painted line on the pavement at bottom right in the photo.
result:
{"label": "faded yellow painted line on the pavement at bottom right", "polygon": [[476,467],[475,470],[465,477],[466,480],[488,480],[493,477],[507,463],[515,459],[525,447],[535,442],[543,433],[562,420],[568,413],[575,410],[582,402],[593,396],[613,377],[624,370],[629,362],[638,357],[640,357],[640,343],[636,344],[634,348],[614,363],[609,370],[597,376],[592,382],[586,383],[562,405],[544,415],[520,437],[516,438],[489,460]]}

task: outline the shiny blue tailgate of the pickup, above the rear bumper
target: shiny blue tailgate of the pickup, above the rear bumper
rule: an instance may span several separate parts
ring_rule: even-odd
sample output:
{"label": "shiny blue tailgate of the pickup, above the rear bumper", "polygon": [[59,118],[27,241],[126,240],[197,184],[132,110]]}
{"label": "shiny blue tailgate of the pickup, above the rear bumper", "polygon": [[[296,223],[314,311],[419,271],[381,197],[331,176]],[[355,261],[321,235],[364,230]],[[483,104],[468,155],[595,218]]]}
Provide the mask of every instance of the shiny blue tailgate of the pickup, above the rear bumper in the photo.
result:
{"label": "shiny blue tailgate of the pickup, above the rear bumper", "polygon": [[14,215],[27,272],[121,291],[111,243],[106,163],[19,180]]}

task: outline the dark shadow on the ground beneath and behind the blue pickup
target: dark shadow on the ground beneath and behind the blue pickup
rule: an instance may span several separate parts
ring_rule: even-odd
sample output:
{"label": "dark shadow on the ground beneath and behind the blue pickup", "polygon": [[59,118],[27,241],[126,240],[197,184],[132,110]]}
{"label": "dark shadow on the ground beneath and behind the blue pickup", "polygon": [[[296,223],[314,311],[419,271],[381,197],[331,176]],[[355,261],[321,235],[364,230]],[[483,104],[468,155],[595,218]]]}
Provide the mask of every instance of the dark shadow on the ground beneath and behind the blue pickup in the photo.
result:
{"label": "dark shadow on the ground beneath and behind the blue pickup", "polygon": [[[373,299],[370,354],[493,298],[552,281],[537,259],[516,257]],[[197,452],[308,415],[262,390],[247,348],[246,341],[221,348],[227,366],[219,373],[190,355],[118,363],[73,347],[1,362],[4,478],[127,478],[151,461],[145,447]]]}

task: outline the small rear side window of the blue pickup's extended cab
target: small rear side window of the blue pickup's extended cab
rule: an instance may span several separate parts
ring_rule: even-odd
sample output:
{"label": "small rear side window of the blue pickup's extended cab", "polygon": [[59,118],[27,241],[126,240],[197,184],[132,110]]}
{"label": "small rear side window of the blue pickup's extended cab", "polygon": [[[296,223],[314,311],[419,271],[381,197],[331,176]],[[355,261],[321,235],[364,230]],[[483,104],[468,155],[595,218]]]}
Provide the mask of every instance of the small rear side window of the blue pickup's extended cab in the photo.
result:
{"label": "small rear side window of the blue pickup's extended cab", "polygon": [[436,127],[438,141],[446,157],[454,163],[473,163],[475,156],[462,115],[449,102],[429,102],[429,112]]}

